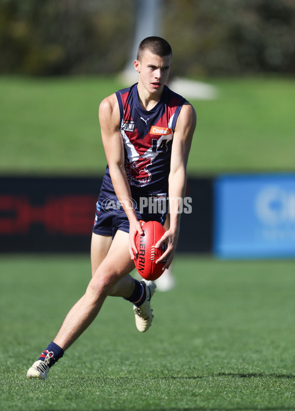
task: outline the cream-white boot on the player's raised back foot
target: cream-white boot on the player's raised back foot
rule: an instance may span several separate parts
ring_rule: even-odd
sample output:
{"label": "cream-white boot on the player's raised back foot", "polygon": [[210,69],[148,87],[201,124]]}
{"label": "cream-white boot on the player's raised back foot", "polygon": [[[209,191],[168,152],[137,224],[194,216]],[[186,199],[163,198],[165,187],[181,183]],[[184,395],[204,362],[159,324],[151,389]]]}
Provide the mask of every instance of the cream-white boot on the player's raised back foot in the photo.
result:
{"label": "cream-white boot on the player's raised back foot", "polygon": [[147,297],[145,302],[136,307],[133,306],[134,314],[135,314],[135,324],[138,331],[144,333],[148,331],[148,328],[151,326],[151,321],[153,319],[152,309],[150,308],[150,299],[153,296],[156,285],[152,281],[141,281],[141,284],[146,286]]}

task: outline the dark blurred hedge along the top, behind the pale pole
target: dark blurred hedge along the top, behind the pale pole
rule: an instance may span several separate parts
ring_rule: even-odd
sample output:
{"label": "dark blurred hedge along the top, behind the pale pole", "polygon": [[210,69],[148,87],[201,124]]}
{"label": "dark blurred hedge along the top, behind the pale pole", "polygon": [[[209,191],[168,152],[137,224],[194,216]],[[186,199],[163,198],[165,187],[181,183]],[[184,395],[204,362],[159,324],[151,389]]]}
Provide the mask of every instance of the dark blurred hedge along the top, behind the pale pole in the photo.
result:
{"label": "dark blurred hedge along the top, behind the pale pole", "polygon": [[[140,0],[0,0],[0,74],[116,73]],[[295,72],[295,0],[163,0],[179,75]]]}

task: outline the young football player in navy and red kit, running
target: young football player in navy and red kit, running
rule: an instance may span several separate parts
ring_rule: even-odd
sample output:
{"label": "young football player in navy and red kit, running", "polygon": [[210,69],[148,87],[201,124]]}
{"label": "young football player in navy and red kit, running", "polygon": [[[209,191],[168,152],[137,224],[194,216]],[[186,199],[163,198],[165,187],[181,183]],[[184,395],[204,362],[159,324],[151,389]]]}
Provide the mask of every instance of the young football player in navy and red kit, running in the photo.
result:
{"label": "young football player in navy and red kit, running", "polygon": [[155,285],[129,275],[137,253],[134,237],[137,232],[143,234],[140,220],[164,224],[166,210],[150,209],[149,205],[150,200],[169,196],[170,228],[156,247],[167,244],[158,261],[167,258],[163,268],[170,266],[177,246],[179,200],[185,192],[186,165],[196,126],[191,104],[165,86],[171,59],[172,50],[166,40],[145,38],[134,62],[138,83],[100,104],[99,121],[108,165],[96,204],[92,279],[65,317],[57,336],[29,368],[28,378],[46,379],[50,367],[86,330],[109,295],[133,303],[139,331],[145,332],[151,325],[150,299]]}

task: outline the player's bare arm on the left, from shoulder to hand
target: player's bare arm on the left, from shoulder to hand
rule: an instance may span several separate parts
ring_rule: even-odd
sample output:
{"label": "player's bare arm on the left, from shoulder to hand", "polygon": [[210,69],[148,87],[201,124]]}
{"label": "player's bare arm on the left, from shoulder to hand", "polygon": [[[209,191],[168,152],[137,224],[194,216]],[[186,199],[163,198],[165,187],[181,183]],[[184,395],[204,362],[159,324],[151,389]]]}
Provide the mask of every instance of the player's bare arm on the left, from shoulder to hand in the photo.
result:
{"label": "player's bare arm on the left, from shoulder to hand", "polygon": [[143,234],[143,230],[137,219],[132,201],[126,203],[126,197],[131,199],[131,190],[125,170],[124,146],[120,132],[120,112],[115,94],[110,95],[100,103],[99,122],[112,183],[129,220],[129,251],[131,258],[134,259],[134,253],[137,253],[134,237],[137,231]]}

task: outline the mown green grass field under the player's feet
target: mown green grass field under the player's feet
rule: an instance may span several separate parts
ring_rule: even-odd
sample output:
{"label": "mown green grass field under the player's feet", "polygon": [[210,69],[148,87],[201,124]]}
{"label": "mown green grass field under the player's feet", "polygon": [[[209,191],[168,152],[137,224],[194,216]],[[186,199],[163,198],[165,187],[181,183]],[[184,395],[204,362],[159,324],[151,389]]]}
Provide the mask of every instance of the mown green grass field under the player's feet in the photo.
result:
{"label": "mown green grass field under the player's feet", "polygon": [[89,257],[1,257],[1,272],[1,410],[295,410],[293,262],[178,255],[147,333],[109,297],[46,381],[26,371],[84,292]]}

